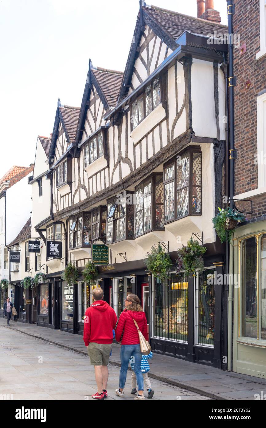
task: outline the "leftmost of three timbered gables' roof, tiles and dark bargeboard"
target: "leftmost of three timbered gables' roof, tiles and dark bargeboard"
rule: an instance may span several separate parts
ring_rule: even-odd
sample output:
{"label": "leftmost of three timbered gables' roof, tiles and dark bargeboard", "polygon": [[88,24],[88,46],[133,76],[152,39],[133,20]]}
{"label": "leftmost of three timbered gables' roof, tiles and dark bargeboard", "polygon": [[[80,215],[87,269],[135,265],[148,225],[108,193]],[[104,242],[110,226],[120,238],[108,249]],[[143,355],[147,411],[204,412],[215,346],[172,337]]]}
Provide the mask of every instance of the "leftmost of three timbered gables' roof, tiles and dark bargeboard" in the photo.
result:
{"label": "leftmost of three timbered gables' roof, tiles and dark bargeboard", "polygon": [[79,107],[61,105],[60,98],[58,98],[56,118],[53,126],[53,134],[49,150],[49,163],[51,162],[51,158],[56,147],[59,122],[62,122],[62,126],[67,137],[67,143],[74,143],[79,119],[79,110]]}

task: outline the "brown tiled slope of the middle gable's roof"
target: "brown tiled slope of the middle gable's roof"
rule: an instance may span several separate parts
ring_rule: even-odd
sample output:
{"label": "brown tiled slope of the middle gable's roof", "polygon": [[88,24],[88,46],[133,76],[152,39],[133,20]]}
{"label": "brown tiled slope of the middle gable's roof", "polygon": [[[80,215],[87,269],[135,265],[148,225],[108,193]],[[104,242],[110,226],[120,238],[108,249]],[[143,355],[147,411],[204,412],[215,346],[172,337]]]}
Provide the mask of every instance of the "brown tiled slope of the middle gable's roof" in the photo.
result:
{"label": "brown tiled slope of the middle gable's roof", "polygon": [[106,68],[91,68],[110,107],[117,104],[117,97],[123,79],[122,71],[107,70]]}

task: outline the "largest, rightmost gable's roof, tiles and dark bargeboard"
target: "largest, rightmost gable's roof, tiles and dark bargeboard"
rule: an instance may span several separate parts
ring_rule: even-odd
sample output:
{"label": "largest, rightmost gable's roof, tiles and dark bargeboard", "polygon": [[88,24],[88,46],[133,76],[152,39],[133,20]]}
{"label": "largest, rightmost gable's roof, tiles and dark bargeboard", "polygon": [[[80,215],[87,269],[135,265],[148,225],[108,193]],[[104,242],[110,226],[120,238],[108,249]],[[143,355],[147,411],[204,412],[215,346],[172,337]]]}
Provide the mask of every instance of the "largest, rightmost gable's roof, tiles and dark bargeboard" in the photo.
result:
{"label": "largest, rightmost gable's roof, tiles and dark bargeboard", "polygon": [[207,36],[209,33],[213,34],[214,31],[217,33],[226,33],[228,29],[226,25],[215,24],[205,19],[194,18],[193,16],[183,15],[157,6],[146,6],[144,3],[144,6],[141,6],[137,15],[137,22],[133,35],[134,43],[132,42],[129,50],[123,81],[119,91],[118,98],[120,100],[126,96],[126,92],[128,91],[127,85],[130,84],[132,79],[137,47],[146,24],[157,36],[163,39],[164,43],[172,49],[172,51],[178,47],[175,40],[186,30],[195,34]]}

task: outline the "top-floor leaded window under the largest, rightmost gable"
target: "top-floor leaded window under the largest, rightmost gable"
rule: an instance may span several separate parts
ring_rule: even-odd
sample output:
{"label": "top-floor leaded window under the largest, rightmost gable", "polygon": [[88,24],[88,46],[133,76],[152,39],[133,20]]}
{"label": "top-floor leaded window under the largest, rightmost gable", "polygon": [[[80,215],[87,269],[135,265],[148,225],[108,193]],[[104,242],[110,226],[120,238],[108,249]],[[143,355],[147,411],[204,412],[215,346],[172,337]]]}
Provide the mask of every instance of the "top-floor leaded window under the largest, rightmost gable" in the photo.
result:
{"label": "top-floor leaded window under the largest, rightmost gable", "polygon": [[145,92],[141,94],[131,106],[131,130],[152,113],[161,102],[159,79],[152,80],[152,83],[146,87]]}

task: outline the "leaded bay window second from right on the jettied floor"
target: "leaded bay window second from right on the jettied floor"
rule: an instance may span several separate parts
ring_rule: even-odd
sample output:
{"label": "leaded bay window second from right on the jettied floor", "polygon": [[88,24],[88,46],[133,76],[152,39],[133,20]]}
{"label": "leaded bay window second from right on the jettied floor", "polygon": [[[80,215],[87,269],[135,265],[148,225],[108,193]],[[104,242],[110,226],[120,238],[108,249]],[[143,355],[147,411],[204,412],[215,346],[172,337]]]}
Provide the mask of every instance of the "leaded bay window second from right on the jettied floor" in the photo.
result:
{"label": "leaded bay window second from right on the jettied floor", "polygon": [[154,173],[135,187],[135,237],[164,229],[163,175]]}

